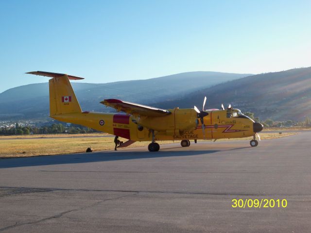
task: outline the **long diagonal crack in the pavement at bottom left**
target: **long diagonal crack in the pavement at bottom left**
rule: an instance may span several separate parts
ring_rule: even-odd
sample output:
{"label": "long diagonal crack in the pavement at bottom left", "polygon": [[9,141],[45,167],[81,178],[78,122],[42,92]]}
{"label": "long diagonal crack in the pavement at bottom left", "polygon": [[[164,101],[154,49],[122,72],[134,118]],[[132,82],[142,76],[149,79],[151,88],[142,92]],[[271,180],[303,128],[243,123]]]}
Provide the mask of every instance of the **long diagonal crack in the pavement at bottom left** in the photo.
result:
{"label": "long diagonal crack in the pavement at bottom left", "polygon": [[45,217],[45,218],[42,218],[42,219],[39,219],[39,220],[36,220],[36,221],[32,221],[32,222],[25,222],[25,223],[15,223],[14,225],[11,225],[11,226],[7,226],[7,227],[4,227],[4,228],[0,228],[0,232],[3,232],[5,230],[8,230],[8,229],[11,229],[11,228],[15,228],[15,227],[19,227],[19,226],[23,226],[23,225],[29,225],[29,224],[35,224],[35,223],[40,223],[40,222],[43,222],[43,221],[46,221],[46,220],[50,220],[52,218],[59,218],[59,217],[62,217],[70,212],[73,212],[73,211],[79,211],[79,210],[84,210],[84,209],[87,209],[87,208],[90,208],[90,207],[93,207],[95,205],[99,205],[105,201],[108,201],[108,200],[117,200],[117,199],[120,199],[120,198],[124,198],[124,197],[128,197],[128,196],[131,196],[131,195],[135,195],[137,193],[133,192],[132,194],[128,194],[128,195],[123,195],[123,196],[120,196],[120,197],[117,197],[117,198],[110,198],[110,199],[104,199],[104,200],[100,200],[100,201],[97,201],[91,205],[87,205],[87,206],[84,206],[84,207],[81,207],[81,208],[78,208],[78,209],[72,209],[72,210],[68,210],[68,211],[64,211],[64,212],[61,212],[57,215],[53,215],[53,216],[50,216],[50,217]]}

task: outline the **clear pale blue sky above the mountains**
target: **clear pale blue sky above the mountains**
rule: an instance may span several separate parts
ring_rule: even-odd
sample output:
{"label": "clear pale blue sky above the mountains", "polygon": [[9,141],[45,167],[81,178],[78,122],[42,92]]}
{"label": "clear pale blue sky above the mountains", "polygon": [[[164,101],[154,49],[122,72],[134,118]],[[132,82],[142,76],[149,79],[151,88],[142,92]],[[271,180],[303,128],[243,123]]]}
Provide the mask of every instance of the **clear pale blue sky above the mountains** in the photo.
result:
{"label": "clear pale blue sky above the mountains", "polygon": [[0,92],[187,71],[261,73],[311,66],[310,0],[2,0]]}

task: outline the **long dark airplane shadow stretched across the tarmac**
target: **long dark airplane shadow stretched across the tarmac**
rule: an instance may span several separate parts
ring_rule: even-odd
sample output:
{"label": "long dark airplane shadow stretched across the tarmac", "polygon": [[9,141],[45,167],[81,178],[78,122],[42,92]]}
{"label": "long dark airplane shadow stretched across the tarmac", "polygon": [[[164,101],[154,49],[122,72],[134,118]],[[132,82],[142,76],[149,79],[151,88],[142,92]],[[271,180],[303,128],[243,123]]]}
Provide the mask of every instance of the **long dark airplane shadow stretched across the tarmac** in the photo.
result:
{"label": "long dark airplane shadow stretched across the tarmac", "polygon": [[26,158],[0,159],[0,168],[47,166],[60,164],[80,164],[92,162],[105,162],[129,159],[146,159],[160,157],[195,156],[200,154],[215,153],[220,150],[191,150],[191,151],[107,151],[92,153],[74,153],[64,155],[48,155]]}

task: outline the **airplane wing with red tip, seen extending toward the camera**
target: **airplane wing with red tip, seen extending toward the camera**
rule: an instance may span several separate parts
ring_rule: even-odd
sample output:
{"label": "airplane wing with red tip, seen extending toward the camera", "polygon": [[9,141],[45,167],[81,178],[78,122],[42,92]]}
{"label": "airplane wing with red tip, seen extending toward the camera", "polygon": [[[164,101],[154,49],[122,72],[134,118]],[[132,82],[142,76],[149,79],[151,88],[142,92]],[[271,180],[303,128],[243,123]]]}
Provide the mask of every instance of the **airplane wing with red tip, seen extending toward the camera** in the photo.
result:
{"label": "airplane wing with red tip, seen extending toward the camera", "polygon": [[146,105],[141,105],[137,103],[125,102],[122,100],[108,99],[101,101],[102,104],[117,109],[118,111],[123,111],[127,114],[138,115],[138,116],[167,116],[171,114],[170,111],[149,107]]}

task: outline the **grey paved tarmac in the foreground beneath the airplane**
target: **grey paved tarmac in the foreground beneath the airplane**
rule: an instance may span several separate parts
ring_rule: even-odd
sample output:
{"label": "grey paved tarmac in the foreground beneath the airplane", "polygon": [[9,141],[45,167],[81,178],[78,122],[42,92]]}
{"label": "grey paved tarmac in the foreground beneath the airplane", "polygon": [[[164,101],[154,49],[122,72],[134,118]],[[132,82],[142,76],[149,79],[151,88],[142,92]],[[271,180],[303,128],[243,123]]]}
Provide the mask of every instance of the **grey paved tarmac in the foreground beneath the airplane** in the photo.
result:
{"label": "grey paved tarmac in the foreground beneath the airplane", "polygon": [[[311,132],[0,160],[0,232],[311,232]],[[287,206],[233,208],[232,199]]]}

